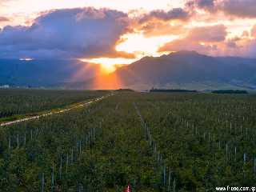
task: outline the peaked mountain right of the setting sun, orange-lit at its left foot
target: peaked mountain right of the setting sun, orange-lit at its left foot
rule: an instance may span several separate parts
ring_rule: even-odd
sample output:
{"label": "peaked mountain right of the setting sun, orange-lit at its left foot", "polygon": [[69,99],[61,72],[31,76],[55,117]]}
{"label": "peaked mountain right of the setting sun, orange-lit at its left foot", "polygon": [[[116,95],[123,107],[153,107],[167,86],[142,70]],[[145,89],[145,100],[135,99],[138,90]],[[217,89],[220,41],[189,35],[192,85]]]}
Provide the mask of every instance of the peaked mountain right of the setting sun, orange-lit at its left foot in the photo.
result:
{"label": "peaked mountain right of the setting sun, orange-lit at its left foot", "polygon": [[[78,84],[79,85],[79,84]],[[194,51],[180,51],[161,57],[145,57],[114,73],[82,82],[87,89],[135,90],[254,89],[256,59],[210,57]]]}

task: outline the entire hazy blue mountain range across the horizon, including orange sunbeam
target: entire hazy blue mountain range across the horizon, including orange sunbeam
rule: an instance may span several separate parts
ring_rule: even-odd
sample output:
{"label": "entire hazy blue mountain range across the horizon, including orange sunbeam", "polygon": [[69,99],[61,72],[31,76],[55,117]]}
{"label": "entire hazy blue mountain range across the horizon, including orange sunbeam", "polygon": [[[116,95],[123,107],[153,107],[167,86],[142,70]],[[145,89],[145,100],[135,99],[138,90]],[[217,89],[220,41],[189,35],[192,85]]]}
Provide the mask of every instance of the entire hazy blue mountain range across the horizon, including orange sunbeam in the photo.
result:
{"label": "entire hazy blue mountain range across the horizon, including orange sunbeam", "polygon": [[99,70],[98,65],[76,60],[0,59],[0,84],[67,89],[256,89],[256,58],[210,57],[179,51],[142,58],[111,74],[101,75]]}

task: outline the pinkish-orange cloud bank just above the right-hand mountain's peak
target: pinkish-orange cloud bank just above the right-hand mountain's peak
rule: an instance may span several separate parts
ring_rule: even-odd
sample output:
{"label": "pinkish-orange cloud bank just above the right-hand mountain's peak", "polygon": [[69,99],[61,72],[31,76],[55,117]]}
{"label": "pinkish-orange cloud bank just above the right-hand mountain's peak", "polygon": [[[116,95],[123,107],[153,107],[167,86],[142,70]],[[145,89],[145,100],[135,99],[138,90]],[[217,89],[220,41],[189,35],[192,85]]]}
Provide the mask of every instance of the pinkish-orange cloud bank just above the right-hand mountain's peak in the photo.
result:
{"label": "pinkish-orange cloud bank just above the right-hand mountain's peak", "polygon": [[197,27],[185,38],[166,43],[158,51],[196,50],[200,54],[214,56],[255,57],[256,39],[241,37],[226,38],[226,26]]}

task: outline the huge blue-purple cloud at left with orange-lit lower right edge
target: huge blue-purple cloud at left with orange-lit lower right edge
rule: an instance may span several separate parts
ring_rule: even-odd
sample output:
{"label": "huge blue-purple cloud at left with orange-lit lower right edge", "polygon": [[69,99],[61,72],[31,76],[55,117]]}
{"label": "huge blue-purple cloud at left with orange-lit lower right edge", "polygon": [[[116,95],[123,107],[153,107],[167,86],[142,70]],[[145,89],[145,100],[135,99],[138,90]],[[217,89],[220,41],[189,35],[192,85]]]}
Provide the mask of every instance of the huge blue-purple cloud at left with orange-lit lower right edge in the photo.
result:
{"label": "huge blue-purple cloud at left with orange-lit lower right edge", "polygon": [[6,26],[0,31],[0,58],[85,58],[133,55],[115,46],[129,30],[129,18],[117,10],[54,10],[32,26]]}

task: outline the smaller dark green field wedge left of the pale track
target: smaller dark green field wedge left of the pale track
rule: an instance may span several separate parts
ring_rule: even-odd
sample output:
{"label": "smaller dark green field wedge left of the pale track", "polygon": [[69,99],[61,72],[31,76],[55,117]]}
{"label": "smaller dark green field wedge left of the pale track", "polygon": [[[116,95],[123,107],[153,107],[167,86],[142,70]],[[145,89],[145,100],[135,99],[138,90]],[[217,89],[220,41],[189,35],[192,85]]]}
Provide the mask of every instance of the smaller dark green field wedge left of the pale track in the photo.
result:
{"label": "smaller dark green field wedge left of the pale track", "polygon": [[106,94],[104,91],[82,90],[2,90],[0,89],[0,122],[24,115],[63,108]]}

